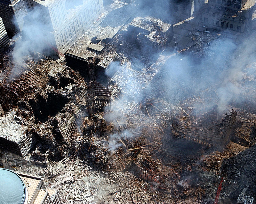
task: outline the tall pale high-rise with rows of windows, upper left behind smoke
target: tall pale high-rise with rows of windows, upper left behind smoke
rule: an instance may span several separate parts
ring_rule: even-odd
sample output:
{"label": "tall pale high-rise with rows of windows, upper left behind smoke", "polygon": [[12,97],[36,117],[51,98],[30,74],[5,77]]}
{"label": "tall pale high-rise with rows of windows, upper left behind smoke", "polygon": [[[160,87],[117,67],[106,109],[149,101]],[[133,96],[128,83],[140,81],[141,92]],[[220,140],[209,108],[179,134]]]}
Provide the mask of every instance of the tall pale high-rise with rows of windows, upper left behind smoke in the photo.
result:
{"label": "tall pale high-rise with rows of windows, upper left behind smoke", "polygon": [[[28,13],[43,25],[44,43],[64,54],[104,12],[102,0],[26,0]],[[36,15],[35,15],[36,14]]]}

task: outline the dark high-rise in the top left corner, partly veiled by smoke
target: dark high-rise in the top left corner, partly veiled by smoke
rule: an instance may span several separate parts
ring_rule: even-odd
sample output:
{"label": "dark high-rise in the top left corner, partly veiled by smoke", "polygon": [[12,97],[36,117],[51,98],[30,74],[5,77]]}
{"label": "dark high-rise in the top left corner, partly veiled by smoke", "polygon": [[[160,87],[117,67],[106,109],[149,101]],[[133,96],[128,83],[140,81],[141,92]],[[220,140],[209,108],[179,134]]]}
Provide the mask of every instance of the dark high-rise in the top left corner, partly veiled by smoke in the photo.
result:
{"label": "dark high-rise in the top left corner, partly veiled by smoke", "polygon": [[23,18],[27,14],[26,3],[23,0],[0,0],[0,17],[3,19],[7,31],[21,32]]}

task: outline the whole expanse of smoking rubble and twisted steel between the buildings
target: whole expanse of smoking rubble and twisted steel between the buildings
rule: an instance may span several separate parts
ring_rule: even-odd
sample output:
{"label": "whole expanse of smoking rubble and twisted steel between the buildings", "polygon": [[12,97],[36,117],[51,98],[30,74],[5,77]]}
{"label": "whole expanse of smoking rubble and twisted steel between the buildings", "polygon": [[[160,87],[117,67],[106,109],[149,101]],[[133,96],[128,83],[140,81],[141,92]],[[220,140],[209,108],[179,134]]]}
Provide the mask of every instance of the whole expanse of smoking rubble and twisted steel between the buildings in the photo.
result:
{"label": "whole expanse of smoking rubble and twisted steel between the buildings", "polygon": [[[106,9],[117,10],[117,15],[126,11],[134,17],[134,11],[136,16],[141,11],[142,17],[155,15],[164,21],[172,17],[172,24],[183,18],[181,12],[172,16],[164,1],[154,3],[155,7],[143,1],[110,3],[106,1]],[[118,12],[120,8],[124,10]],[[38,138],[24,158],[1,149],[1,165],[41,176],[67,204],[210,204],[221,177],[219,203],[236,203],[248,182],[246,195],[254,197],[255,22],[247,33],[201,32],[196,37],[202,24],[198,18],[193,20],[174,26],[174,38],[157,51],[124,25],[102,55],[103,59],[118,56],[118,60],[107,68],[116,73],[106,72],[110,80],[104,84],[111,91],[111,104],[97,111],[89,100],[90,78],[97,79],[98,74],[94,69],[78,72],[65,60],[57,62],[38,52],[30,52],[22,65],[16,65],[12,62],[15,43],[1,49],[4,117],[26,125]],[[92,51],[83,46],[86,40],[90,43],[88,33],[71,52],[91,57]],[[7,82],[14,83],[30,70],[39,79],[35,86],[19,87],[17,94],[6,89]],[[175,139],[172,134],[173,119],[203,130],[230,109],[237,112],[240,125],[224,147]],[[58,127],[69,124],[72,115],[75,127],[65,137]]]}

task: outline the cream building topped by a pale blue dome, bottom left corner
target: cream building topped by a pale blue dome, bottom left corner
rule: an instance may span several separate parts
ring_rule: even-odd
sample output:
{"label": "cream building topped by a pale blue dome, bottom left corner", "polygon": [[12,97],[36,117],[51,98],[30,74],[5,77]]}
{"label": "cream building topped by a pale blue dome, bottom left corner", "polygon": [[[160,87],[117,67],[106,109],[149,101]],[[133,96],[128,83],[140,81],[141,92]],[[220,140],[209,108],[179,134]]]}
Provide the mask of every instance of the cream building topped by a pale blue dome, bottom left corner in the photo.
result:
{"label": "cream building topped by a pale blue dome, bottom left corner", "polygon": [[46,188],[42,178],[0,168],[0,203],[61,204],[58,192]]}

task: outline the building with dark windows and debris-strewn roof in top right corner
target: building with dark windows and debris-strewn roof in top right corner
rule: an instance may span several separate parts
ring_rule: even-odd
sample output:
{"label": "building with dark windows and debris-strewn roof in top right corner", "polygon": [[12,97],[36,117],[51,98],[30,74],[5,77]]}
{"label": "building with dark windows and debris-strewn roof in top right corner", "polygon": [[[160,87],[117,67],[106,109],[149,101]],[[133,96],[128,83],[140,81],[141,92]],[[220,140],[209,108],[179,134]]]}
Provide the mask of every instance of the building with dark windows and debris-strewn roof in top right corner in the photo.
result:
{"label": "building with dark windows and debris-strewn roof in top right corner", "polygon": [[212,0],[202,13],[202,21],[209,27],[244,32],[255,10],[253,0]]}

